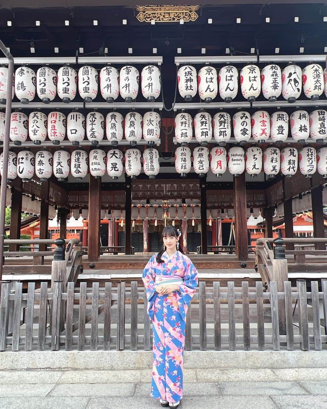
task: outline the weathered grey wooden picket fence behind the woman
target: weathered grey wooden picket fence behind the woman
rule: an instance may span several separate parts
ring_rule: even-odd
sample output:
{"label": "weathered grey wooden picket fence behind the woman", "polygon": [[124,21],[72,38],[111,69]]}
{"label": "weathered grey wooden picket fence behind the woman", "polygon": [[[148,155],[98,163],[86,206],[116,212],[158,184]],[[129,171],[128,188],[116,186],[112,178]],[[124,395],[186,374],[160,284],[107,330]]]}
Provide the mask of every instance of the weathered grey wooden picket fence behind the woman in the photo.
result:
{"label": "weathered grey wooden picket fence behind the woman", "polygon": [[[115,288],[93,283],[92,289],[85,282],[80,288],[69,282],[65,292],[62,285],[55,282],[49,292],[47,283],[36,289],[31,282],[26,293],[20,282],[13,289],[11,283],[2,283],[0,351],[151,349],[146,292],[136,281],[128,288],[125,282]],[[270,292],[261,282],[253,291],[248,282],[242,282],[241,291],[235,290],[234,282],[228,282],[228,288],[220,288],[219,282],[206,288],[200,282],[186,316],[185,349],[321,350],[327,342],[322,325],[327,281],[322,281],[322,291],[318,281],[312,281],[307,292],[301,280],[296,288],[286,281],[284,289],[277,292],[274,281]],[[286,311],[286,326],[278,319],[279,306]]]}

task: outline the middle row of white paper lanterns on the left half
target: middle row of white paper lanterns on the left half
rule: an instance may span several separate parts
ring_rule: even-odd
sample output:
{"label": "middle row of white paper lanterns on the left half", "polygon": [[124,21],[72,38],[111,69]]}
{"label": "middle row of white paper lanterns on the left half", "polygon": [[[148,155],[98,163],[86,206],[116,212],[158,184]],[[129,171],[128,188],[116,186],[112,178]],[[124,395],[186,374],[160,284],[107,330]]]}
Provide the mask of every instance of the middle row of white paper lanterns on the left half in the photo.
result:
{"label": "middle row of white paper lanterns on the left half", "polygon": [[[5,114],[0,112],[0,141],[4,139]],[[86,128],[86,129],[85,129]],[[123,118],[119,112],[109,112],[104,118],[100,112],[89,112],[86,120],[81,112],[34,111],[27,117],[23,112],[12,112],[10,121],[10,140],[15,145],[25,142],[27,136],[36,145],[40,145],[48,137],[53,144],[59,145],[67,137],[73,145],[78,146],[84,140],[85,130],[87,139],[96,146],[103,140],[106,133],[112,146],[125,138],[130,145],[136,145],[143,136],[148,145],[153,145],[160,138],[161,117],[157,112],[149,111],[143,115],[138,112],[128,112]]]}

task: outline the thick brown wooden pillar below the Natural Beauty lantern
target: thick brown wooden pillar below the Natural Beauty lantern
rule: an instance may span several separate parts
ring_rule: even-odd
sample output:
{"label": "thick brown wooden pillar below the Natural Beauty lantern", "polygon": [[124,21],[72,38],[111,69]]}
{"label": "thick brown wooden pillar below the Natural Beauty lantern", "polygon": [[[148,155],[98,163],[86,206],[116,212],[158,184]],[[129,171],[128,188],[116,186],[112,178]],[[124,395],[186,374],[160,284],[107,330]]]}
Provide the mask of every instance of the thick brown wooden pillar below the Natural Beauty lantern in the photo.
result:
{"label": "thick brown wooden pillar below the Natural Beauty lantern", "polygon": [[239,260],[248,259],[248,229],[246,219],[245,172],[233,176],[234,218],[235,218],[235,253]]}

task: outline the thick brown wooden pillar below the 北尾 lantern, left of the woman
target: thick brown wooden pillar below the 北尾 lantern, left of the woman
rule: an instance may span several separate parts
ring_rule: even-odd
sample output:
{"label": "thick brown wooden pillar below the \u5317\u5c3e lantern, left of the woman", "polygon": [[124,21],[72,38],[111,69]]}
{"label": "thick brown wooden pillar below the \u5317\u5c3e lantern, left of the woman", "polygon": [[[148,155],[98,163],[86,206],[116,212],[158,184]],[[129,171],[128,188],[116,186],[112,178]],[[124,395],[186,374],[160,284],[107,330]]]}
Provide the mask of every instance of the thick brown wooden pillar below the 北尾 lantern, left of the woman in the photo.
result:
{"label": "thick brown wooden pillar below the \u5317\u5c3e lantern, left of the woman", "polygon": [[98,261],[100,256],[100,206],[101,179],[90,175],[89,184],[89,226],[87,260]]}

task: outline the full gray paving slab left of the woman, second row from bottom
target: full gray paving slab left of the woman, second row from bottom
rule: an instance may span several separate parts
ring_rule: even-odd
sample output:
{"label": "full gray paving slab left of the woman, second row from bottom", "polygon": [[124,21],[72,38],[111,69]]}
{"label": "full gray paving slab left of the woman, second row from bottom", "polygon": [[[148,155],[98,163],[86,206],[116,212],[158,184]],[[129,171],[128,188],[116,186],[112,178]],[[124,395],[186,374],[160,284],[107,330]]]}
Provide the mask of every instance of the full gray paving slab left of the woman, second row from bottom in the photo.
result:
{"label": "full gray paving slab left of the woman, second row from bottom", "polygon": [[49,396],[133,396],[134,383],[57,384]]}

